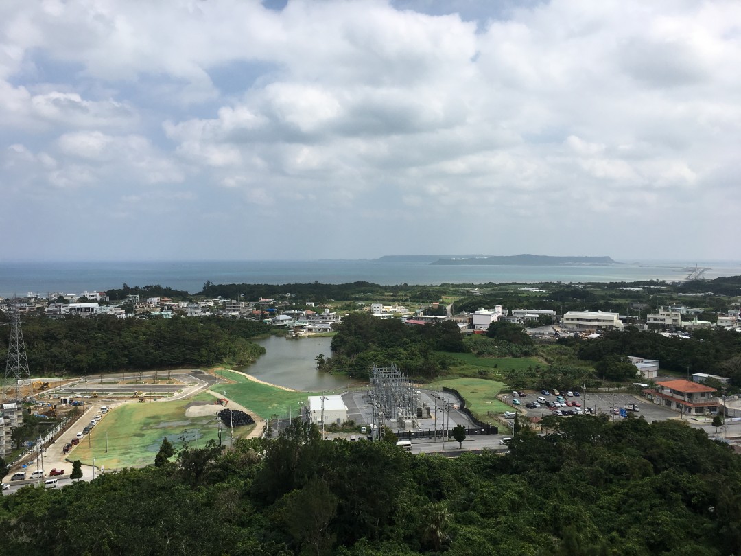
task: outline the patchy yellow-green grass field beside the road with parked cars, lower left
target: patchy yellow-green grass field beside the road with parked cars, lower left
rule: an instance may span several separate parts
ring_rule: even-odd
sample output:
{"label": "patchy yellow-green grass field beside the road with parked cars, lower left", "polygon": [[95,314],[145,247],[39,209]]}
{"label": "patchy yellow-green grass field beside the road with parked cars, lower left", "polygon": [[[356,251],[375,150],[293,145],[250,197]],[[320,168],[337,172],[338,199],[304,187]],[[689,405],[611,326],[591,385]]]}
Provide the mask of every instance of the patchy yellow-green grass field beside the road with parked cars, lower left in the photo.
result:
{"label": "patchy yellow-green grass field beside the road with parked cars, lower left", "polygon": [[[208,440],[218,442],[216,416],[185,417],[185,407],[193,401],[213,403],[214,398],[210,394],[199,394],[187,400],[126,403],[115,408],[84,437],[70,454],[70,460],[80,460],[90,465],[95,457],[96,466],[104,466],[105,469],[146,466],[154,463],[165,436],[176,451],[182,448],[181,437],[185,430],[191,446],[205,446]],[[233,432],[236,437],[247,434],[253,427],[235,427]],[[228,428],[222,428],[222,437],[225,443],[229,442]]]}

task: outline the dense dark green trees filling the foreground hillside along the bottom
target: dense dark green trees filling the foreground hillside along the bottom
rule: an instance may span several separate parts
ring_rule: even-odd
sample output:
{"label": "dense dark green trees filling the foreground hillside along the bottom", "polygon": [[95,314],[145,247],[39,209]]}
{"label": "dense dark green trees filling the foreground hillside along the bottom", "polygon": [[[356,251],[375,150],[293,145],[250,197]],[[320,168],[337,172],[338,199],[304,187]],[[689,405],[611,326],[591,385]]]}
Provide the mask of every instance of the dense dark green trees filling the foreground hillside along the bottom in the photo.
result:
{"label": "dense dark green trees filling the foreground hillside along the bottom", "polygon": [[[741,549],[741,460],[678,421],[551,420],[504,457],[274,440],[0,499],[7,555],[706,555]],[[199,452],[196,454],[196,452]]]}

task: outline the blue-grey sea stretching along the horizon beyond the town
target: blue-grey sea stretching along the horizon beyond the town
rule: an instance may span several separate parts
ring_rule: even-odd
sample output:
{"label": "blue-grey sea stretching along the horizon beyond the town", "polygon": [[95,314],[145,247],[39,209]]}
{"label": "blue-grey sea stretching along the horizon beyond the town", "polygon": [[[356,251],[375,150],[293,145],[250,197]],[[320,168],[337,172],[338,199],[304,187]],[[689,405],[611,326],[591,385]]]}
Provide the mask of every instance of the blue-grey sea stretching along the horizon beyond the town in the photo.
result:
{"label": "blue-grey sea stretching along the horizon beyond the town", "polygon": [[737,276],[741,262],[634,262],[611,266],[429,265],[378,260],[314,261],[130,261],[0,262],[0,296],[80,294],[133,286],[163,285],[194,294],[214,284],[341,284],[366,281],[381,285],[437,285],[534,282],[634,282],[685,279],[686,268],[708,268],[705,278]]}

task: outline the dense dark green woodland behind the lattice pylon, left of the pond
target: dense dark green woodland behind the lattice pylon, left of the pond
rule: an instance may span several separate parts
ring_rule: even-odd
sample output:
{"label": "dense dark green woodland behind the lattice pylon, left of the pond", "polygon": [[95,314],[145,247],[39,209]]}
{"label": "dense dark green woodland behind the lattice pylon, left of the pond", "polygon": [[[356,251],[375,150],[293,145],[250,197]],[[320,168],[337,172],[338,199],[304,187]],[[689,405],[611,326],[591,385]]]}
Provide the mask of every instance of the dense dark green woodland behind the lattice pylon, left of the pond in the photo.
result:
{"label": "dense dark green woodland behind the lattice pylon, left of the pond", "polygon": [[[24,316],[23,334],[33,374],[92,374],[122,369],[249,363],[263,350],[249,339],[270,330],[262,322],[217,317],[117,319]],[[0,326],[5,359],[9,327]]]}

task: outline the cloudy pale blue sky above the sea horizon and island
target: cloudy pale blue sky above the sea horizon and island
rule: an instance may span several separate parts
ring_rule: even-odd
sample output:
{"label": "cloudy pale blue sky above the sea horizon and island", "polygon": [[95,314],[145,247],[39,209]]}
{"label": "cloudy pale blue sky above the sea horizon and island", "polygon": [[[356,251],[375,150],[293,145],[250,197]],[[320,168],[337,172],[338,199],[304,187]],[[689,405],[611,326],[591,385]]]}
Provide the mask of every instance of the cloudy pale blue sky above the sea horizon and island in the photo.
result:
{"label": "cloudy pale blue sky above the sea horizon and island", "polygon": [[737,0],[4,0],[0,260],[740,260]]}

